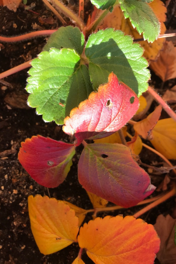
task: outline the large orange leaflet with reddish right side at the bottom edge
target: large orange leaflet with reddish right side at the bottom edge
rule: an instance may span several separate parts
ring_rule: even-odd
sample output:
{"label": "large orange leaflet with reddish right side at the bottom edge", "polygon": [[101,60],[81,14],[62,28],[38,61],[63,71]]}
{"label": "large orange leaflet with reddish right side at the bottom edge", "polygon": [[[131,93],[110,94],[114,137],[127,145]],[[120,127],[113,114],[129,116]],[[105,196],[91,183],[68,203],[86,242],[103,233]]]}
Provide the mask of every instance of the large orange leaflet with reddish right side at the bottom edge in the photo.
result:
{"label": "large orange leaflet with reddish right side at the bottom edge", "polygon": [[151,264],[160,239],[153,226],[133,216],[106,216],[80,228],[78,243],[96,264]]}

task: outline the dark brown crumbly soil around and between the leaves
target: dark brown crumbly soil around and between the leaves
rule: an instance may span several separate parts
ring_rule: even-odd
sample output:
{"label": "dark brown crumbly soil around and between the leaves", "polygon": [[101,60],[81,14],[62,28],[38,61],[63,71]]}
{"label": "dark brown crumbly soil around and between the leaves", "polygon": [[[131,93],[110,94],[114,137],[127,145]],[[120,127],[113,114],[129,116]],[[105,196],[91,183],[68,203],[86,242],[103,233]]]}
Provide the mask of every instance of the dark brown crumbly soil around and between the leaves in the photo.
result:
{"label": "dark brown crumbly soil around and between the leaves", "polygon": [[[26,5],[29,7],[31,4],[32,1],[28,0]],[[69,4],[77,10],[77,4],[71,1]],[[0,8],[0,35],[19,35],[34,30],[55,29],[62,26],[42,1],[35,1],[33,6],[32,9],[28,9],[21,3],[16,13],[9,11],[6,7]],[[175,29],[173,7],[174,1],[171,1],[167,13],[167,29]],[[88,16],[92,10],[90,2],[86,2],[86,10]],[[49,19],[46,20],[46,18]],[[36,57],[45,43],[46,38],[44,37],[21,43],[0,43],[0,72]],[[4,78],[7,83],[0,82],[0,264],[71,264],[79,252],[77,244],[72,244],[51,255],[43,255],[38,250],[30,229],[27,198],[29,195],[48,195],[48,193],[47,189],[38,185],[19,163],[18,151],[21,141],[38,134],[64,142],[70,142],[71,139],[63,133],[61,127],[54,122],[45,123],[41,116],[35,114],[35,109],[26,105],[28,94],[24,88],[28,77],[27,71],[28,69]],[[160,86],[159,78],[154,74],[152,78],[152,82]],[[176,84],[176,81],[172,80],[172,86],[175,85],[174,83]],[[163,89],[166,87],[164,86]],[[149,111],[152,111],[154,106],[155,104]],[[49,191],[51,197],[67,200],[84,209],[92,209],[89,197],[77,179],[77,163],[81,151],[82,146],[77,149],[66,180],[59,187]],[[146,164],[151,164],[151,160],[156,163],[162,162],[157,155],[147,150],[143,150],[140,157],[141,161]],[[159,186],[164,176],[151,175],[152,184]],[[134,207],[133,211],[132,209],[121,210],[118,214],[132,215],[139,209],[139,207]],[[150,224],[155,224],[159,214],[172,214],[174,209],[175,198],[173,197],[141,218]],[[109,214],[116,215],[117,212]],[[107,214],[98,214],[101,217],[105,215]],[[87,214],[85,221],[91,219],[91,214]],[[83,260],[86,264],[93,263],[86,254],[83,254]],[[155,263],[159,261],[156,259]]]}

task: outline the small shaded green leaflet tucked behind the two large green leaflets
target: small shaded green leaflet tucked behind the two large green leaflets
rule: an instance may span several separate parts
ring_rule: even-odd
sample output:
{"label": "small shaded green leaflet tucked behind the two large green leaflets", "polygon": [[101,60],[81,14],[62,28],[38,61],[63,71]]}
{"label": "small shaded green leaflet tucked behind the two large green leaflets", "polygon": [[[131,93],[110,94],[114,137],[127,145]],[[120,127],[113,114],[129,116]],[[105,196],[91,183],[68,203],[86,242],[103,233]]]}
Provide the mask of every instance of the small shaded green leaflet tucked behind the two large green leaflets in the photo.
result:
{"label": "small shaded green leaflet tucked behind the two large green leaflets", "polygon": [[49,51],[50,48],[67,48],[75,50],[79,55],[82,54],[84,48],[84,35],[79,28],[72,26],[61,27],[53,33],[43,48],[43,51]]}

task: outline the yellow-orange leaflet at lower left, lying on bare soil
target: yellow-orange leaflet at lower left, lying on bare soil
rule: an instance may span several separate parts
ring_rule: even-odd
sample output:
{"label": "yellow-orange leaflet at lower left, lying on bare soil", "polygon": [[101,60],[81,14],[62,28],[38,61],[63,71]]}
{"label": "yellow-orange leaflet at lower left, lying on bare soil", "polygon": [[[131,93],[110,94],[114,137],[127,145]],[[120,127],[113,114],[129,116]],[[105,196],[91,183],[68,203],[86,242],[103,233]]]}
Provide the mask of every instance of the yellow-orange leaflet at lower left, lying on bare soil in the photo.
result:
{"label": "yellow-orange leaflet at lower left, lying on bare soil", "polygon": [[29,217],[35,242],[47,255],[77,241],[78,217],[67,204],[48,196],[28,197]]}

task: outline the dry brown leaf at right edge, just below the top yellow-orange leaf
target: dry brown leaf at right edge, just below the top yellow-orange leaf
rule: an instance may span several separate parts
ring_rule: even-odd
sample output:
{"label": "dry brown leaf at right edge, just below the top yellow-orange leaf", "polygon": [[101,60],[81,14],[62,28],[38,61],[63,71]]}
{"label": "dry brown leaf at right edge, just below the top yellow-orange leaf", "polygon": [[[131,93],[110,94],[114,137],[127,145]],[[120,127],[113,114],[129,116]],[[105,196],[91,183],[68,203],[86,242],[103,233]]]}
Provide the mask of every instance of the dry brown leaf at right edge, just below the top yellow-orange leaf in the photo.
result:
{"label": "dry brown leaf at right edge, just below the top yellow-orange leaf", "polygon": [[163,82],[176,78],[176,47],[172,41],[164,43],[164,49],[160,52],[157,61],[150,63],[150,68]]}

